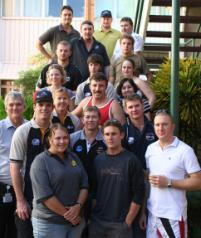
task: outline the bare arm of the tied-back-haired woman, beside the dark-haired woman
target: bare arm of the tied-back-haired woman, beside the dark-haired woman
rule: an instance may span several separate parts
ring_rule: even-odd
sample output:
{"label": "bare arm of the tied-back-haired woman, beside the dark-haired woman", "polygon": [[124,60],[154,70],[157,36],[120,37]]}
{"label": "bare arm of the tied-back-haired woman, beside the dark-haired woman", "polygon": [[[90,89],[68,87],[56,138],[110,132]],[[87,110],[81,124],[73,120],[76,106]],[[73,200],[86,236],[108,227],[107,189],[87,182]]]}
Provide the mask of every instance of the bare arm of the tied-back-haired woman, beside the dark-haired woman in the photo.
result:
{"label": "bare arm of the tied-back-haired woman, beside the dark-haired woman", "polygon": [[153,108],[154,103],[156,101],[156,95],[154,91],[151,89],[151,87],[149,86],[147,82],[139,78],[135,78],[134,81],[135,81],[135,84],[140,89],[140,91],[142,91],[144,96],[148,99],[150,107]]}

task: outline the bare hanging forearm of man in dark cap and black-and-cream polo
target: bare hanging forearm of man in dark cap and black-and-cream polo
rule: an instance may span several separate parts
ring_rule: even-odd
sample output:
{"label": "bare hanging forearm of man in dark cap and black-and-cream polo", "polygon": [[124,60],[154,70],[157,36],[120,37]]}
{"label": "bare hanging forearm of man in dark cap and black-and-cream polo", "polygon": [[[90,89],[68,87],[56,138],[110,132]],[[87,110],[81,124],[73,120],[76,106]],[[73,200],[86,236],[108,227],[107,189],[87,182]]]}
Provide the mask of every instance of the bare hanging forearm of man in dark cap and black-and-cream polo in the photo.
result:
{"label": "bare hanging forearm of man in dark cap and black-and-cream polo", "polygon": [[12,177],[13,188],[15,190],[15,195],[17,199],[17,209],[16,212],[20,219],[26,220],[29,218],[31,209],[27,203],[24,193],[23,193],[23,178],[20,172],[22,167],[21,162],[10,163],[10,173]]}

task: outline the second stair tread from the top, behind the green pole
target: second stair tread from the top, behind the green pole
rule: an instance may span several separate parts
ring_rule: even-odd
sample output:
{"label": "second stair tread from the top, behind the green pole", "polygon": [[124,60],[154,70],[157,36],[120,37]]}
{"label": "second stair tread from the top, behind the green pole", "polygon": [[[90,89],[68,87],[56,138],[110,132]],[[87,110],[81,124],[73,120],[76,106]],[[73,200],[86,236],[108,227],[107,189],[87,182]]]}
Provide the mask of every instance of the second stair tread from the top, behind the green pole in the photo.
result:
{"label": "second stair tread from the top, behind the green pole", "polygon": [[[172,17],[171,16],[163,16],[163,15],[150,15],[149,22],[170,23],[170,22],[172,22]],[[180,22],[181,23],[190,23],[190,24],[200,24],[201,17],[200,16],[180,16]]]}

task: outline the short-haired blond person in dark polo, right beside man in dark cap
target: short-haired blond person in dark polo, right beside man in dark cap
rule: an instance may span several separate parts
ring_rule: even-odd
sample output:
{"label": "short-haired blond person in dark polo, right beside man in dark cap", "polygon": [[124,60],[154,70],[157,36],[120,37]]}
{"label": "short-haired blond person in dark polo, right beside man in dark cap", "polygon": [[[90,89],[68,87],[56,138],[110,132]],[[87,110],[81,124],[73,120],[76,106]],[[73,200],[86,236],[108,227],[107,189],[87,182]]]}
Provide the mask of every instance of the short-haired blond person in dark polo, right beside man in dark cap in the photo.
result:
{"label": "short-haired blond person in dark polo, right beside man in dark cap", "polygon": [[69,112],[70,98],[66,88],[61,87],[54,91],[54,111],[52,123],[61,123],[71,134],[80,129],[80,120],[77,116]]}

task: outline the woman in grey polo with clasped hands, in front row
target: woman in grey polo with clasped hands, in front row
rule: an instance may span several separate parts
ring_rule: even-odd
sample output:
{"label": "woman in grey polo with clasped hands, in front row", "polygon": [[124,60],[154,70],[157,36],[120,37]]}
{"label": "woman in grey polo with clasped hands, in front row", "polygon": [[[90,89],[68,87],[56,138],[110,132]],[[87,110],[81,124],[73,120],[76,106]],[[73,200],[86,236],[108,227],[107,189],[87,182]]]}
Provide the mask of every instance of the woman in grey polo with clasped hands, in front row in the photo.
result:
{"label": "woman in grey polo with clasped hands, in front row", "polygon": [[36,156],[30,170],[34,237],[80,238],[87,175],[77,156],[67,151],[69,135],[65,127],[54,124],[48,141],[49,149]]}

